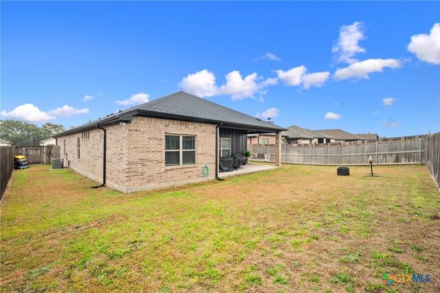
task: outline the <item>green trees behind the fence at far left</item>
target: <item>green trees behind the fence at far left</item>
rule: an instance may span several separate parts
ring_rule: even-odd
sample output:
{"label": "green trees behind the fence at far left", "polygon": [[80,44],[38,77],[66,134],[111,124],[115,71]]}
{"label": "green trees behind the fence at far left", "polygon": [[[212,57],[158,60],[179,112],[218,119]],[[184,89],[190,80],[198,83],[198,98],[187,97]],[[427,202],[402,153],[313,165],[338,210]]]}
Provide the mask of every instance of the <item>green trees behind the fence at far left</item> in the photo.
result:
{"label": "green trees behind the fence at far left", "polygon": [[0,120],[0,138],[12,142],[15,146],[38,146],[41,140],[52,138],[56,133],[65,131],[61,124],[46,122],[39,127],[36,124],[19,120]]}

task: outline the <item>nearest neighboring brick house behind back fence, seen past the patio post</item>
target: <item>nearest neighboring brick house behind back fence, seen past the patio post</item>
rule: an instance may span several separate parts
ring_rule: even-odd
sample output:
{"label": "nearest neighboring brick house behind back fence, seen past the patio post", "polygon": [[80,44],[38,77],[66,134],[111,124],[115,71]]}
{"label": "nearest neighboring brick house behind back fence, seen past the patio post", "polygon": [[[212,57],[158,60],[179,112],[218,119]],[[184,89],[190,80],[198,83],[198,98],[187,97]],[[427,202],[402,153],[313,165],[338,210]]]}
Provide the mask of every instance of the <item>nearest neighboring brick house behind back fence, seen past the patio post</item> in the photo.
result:
{"label": "nearest neighboring brick house behind back fence, seen past the patio post", "polygon": [[[292,125],[281,133],[281,144],[324,144],[335,142],[330,135]],[[248,144],[275,144],[274,133],[249,134]]]}

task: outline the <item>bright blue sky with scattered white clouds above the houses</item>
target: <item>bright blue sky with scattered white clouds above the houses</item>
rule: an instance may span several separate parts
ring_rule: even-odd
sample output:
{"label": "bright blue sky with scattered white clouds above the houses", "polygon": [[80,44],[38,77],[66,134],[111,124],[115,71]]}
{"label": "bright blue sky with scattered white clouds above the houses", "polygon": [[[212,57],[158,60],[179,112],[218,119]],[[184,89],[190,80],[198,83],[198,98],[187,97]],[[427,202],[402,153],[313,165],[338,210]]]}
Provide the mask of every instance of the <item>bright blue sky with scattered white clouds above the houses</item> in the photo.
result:
{"label": "bright blue sky with scattered white clouds above the houses", "polygon": [[283,127],[440,131],[440,2],[1,1],[1,119],[184,90]]}

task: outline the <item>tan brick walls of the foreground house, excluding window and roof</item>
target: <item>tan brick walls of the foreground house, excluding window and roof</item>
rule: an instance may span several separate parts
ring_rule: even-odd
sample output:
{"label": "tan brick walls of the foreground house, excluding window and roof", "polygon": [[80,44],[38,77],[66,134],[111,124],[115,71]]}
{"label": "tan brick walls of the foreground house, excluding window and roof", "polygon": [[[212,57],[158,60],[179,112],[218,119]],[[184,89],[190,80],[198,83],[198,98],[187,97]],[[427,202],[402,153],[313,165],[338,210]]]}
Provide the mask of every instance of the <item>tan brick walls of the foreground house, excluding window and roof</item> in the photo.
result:
{"label": "tan brick walls of the foreground house, excluding window and roof", "polygon": [[[134,117],[130,123],[114,124],[107,129],[106,184],[124,193],[206,180],[203,166],[215,176],[214,124]],[[165,166],[165,135],[195,135],[196,163],[186,166]],[[74,171],[102,183],[102,147],[104,131],[89,130],[89,139],[81,132],[58,138],[65,166],[70,161]],[[77,138],[80,138],[80,159],[77,159]],[[66,150],[63,141],[66,140]],[[65,155],[67,153],[67,155]]]}

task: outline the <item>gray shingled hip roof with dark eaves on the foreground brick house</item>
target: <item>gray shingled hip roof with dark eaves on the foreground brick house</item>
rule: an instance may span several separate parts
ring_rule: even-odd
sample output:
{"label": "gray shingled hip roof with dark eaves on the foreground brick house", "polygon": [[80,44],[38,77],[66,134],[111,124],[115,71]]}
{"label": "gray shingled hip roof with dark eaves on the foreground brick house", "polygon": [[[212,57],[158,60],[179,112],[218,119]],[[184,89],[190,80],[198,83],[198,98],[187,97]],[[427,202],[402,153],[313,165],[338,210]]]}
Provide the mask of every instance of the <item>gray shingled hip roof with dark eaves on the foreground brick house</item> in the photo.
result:
{"label": "gray shingled hip roof with dark eaves on the foreground brick house", "polygon": [[131,121],[133,116],[153,116],[165,119],[188,120],[222,124],[222,127],[242,128],[252,131],[283,131],[283,127],[246,115],[239,111],[223,107],[209,100],[193,96],[184,91],[164,96],[137,107],[132,107],[118,113],[107,115],[93,122],[83,124],[54,135],[55,137],[75,133],[85,129],[95,128],[98,124],[113,124],[115,122]]}

